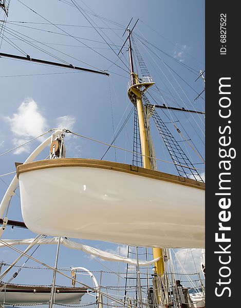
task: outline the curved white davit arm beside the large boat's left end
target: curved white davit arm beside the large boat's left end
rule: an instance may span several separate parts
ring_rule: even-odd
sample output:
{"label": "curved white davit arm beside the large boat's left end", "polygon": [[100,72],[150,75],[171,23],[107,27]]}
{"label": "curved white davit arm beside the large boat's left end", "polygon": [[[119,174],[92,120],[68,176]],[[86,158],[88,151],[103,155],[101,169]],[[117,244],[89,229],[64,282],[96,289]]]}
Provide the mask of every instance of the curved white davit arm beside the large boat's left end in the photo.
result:
{"label": "curved white davit arm beside the large boat's left end", "polygon": [[[59,133],[62,133],[63,132],[63,129],[56,129],[54,131],[54,135],[56,136],[57,134]],[[45,141],[43,141],[30,155],[29,157],[26,159],[26,161],[24,162],[24,164],[26,163],[30,163],[34,160],[34,158],[36,156],[39,155],[39,153],[41,153],[43,151],[43,149],[46,148],[46,146],[50,143],[51,141],[51,136],[48,137]],[[5,195],[3,197],[3,200],[0,204],[0,217],[4,217],[4,212],[5,212],[5,209],[8,205],[8,202],[11,198],[11,196],[14,196],[15,195],[15,192],[14,190],[16,189],[17,187],[17,183],[18,183],[18,179],[17,179],[17,176],[15,175],[15,177],[13,178],[11,184],[8,186],[8,189],[7,191],[5,192]]]}

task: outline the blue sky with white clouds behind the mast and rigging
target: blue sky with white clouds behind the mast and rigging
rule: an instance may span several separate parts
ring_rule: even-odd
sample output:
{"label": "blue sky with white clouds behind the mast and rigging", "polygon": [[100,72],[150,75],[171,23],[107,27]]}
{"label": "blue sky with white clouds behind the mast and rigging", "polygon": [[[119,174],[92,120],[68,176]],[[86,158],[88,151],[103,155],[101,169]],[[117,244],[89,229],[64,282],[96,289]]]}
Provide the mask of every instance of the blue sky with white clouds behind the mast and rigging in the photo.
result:
{"label": "blue sky with white clouds behind the mast and rigging", "polygon": [[[23,52],[37,59],[59,62],[63,60],[69,64],[87,68],[92,66],[100,70],[108,70],[110,76],[72,72],[66,69],[36,65],[1,57],[0,152],[3,153],[26,140],[38,136],[49,128],[59,125],[64,125],[66,128],[84,136],[109,143],[112,141],[113,130],[117,129],[118,131],[120,127],[118,127],[118,124],[120,123],[121,125],[123,123],[123,119],[125,119],[132,108],[132,104],[128,101],[126,94],[129,79],[126,66],[110,50],[96,30],[89,28],[90,24],[76,7],[71,6],[71,1],[67,1],[69,5],[64,1],[57,0],[51,2],[47,0],[41,2],[24,0],[23,3],[35,12],[38,12],[39,15],[33,13],[18,0],[12,0],[8,17],[9,23],[5,29],[4,34],[6,36],[4,36],[2,42],[1,52],[17,55],[23,55]],[[109,44],[113,42],[116,45],[112,45],[116,52],[119,51],[120,46],[123,44],[124,38],[122,38],[122,34],[124,26],[128,24],[132,17],[133,26],[137,18],[139,18],[134,31],[135,40],[162,94],[166,94],[173,100],[169,93],[170,91],[182,107],[204,110],[204,101],[198,99],[194,102],[197,94],[173,73],[180,85],[179,87],[173,75],[162,62],[163,60],[165,63],[168,63],[197,93],[203,90],[202,81],[200,79],[197,82],[194,81],[197,78],[198,71],[200,69],[205,70],[204,1],[150,1],[148,5],[144,1],[139,1],[137,5],[134,1],[104,0],[100,2],[89,0],[86,2],[88,7],[82,1],[77,3],[83,9],[93,10],[96,14],[106,18],[103,21],[88,13],[89,18],[91,18],[89,21],[91,23],[95,22],[101,27],[103,32],[100,32],[101,30],[98,31],[105,40]],[[86,11],[84,12],[86,13]],[[2,12],[0,17],[3,19]],[[52,24],[58,24],[58,27],[49,24],[46,20]],[[117,24],[110,23],[109,20]],[[20,21],[28,22],[28,24],[16,23]],[[32,23],[48,23],[48,25]],[[80,27],[76,27],[76,25]],[[58,32],[59,34],[52,32]],[[71,36],[68,36],[66,32],[71,34]],[[49,53],[54,54],[60,60],[54,59],[46,52],[18,40],[17,38],[19,38],[18,35],[21,35],[20,33],[26,35],[24,37],[28,38],[31,43],[33,43],[33,39],[38,42],[44,42],[45,45],[41,45],[35,41],[34,45],[38,45]],[[78,38],[75,39],[72,36]],[[142,43],[138,39],[140,36],[142,36]],[[146,42],[144,43],[146,45],[144,45],[143,37],[158,49]],[[21,50],[16,50],[16,48],[11,46],[8,39],[11,40],[12,45],[17,45]],[[80,41],[95,51],[86,48]],[[150,49],[146,49],[146,46]],[[50,47],[58,49],[62,53]],[[126,50],[127,48],[125,47],[122,59],[128,66]],[[174,57],[181,64],[170,59],[166,54]],[[160,60],[160,57],[162,60]],[[122,68],[113,64],[115,62]],[[186,65],[192,69],[188,69]],[[186,95],[190,101],[188,101]],[[177,107],[174,101],[168,100],[167,102],[170,106],[174,105]],[[183,102],[187,105],[184,106]],[[163,121],[166,121],[165,115],[163,113],[160,113],[160,115],[163,115]],[[198,118],[196,115],[196,118],[193,118],[190,115],[184,116],[180,113],[177,116],[178,120],[182,121],[184,129],[188,131],[191,139],[195,142],[198,150],[204,156],[204,119]],[[190,126],[190,121],[192,126]],[[173,131],[175,132],[175,129]],[[198,134],[196,131],[198,131]],[[166,156],[157,133],[153,132],[153,139],[157,142],[157,157],[171,161]],[[106,146],[68,135],[65,138],[65,142],[67,157],[100,159],[106,150]],[[0,174],[14,171],[14,162],[23,162],[27,158],[28,153],[38,145],[39,141],[33,141],[22,150],[17,150],[0,157]],[[122,130],[116,145],[132,150],[133,117],[130,118]],[[47,155],[48,151],[46,150],[39,158],[44,159]],[[190,155],[195,162],[198,161],[192,151],[190,151]],[[132,163],[132,155],[119,150],[116,150],[115,153],[114,149],[108,151],[105,159],[111,161],[117,159],[119,162]],[[163,163],[158,163],[158,167],[162,171],[175,172],[172,167],[168,167]],[[0,179],[2,179],[0,180],[0,194],[2,198],[7,188],[6,184],[11,182],[12,175],[1,177]],[[19,195],[19,192],[17,194]],[[20,198],[15,196],[13,199],[9,210],[9,218],[22,220]],[[4,238],[30,238],[33,236],[29,230],[17,228],[12,230],[10,227],[7,228],[4,234]],[[122,253],[126,251],[125,247],[120,246],[118,248],[116,244],[85,240],[82,242],[103,250],[110,249],[118,252],[118,249],[120,249]],[[196,253],[194,252],[194,254]],[[42,246],[34,254],[34,256],[41,258],[41,260],[49,264],[54,263],[54,255],[55,247],[51,246]],[[185,253],[179,253],[179,255],[180,258],[185,258]],[[16,256],[15,253],[10,252],[6,248],[2,250],[0,260],[11,261],[14,256]],[[198,254],[195,257],[198,260]],[[28,261],[28,263],[33,264],[32,261]],[[115,270],[117,268],[117,264],[110,262],[104,262],[104,264]],[[197,265],[199,266],[199,263]],[[85,266],[92,270],[103,268],[95,259],[91,259],[81,252],[70,253],[64,247],[61,247],[59,266]],[[124,270],[125,266],[120,265],[119,268]],[[194,271],[193,264],[189,266],[189,269],[191,272]],[[47,271],[40,271],[36,276],[31,276],[31,279],[29,275],[31,275],[30,272],[21,273],[20,277],[16,278],[15,281],[18,283],[39,282],[49,284],[52,274],[47,274]],[[58,279],[59,283],[63,281],[60,277]],[[115,281],[115,278],[113,278],[113,281]]]}

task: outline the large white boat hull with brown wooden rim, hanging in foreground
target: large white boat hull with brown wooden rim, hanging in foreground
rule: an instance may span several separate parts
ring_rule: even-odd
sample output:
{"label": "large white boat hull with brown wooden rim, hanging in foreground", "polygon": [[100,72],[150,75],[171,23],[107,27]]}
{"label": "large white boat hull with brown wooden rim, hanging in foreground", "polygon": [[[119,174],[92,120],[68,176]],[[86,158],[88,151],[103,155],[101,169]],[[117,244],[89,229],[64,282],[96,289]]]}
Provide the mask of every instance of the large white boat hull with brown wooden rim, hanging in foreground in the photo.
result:
{"label": "large white boat hull with brown wooden rim, hanging in foreground", "polygon": [[83,159],[18,166],[24,222],[37,234],[204,247],[205,190],[190,184],[195,181],[186,185],[158,171],[150,177],[141,175],[146,169],[120,168],[126,166],[132,170],[129,165]]}

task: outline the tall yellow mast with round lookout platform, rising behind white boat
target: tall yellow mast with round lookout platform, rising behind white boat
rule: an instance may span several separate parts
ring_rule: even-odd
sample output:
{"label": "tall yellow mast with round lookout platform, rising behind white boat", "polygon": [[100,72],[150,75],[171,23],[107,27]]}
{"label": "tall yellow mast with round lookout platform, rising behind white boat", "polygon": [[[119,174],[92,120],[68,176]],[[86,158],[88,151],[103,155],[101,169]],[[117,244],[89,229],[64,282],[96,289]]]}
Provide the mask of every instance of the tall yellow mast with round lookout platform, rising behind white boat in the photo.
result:
{"label": "tall yellow mast with round lookout platform, rising behind white boat", "polygon": [[[131,83],[132,83],[131,87],[128,89],[128,97],[137,108],[143,166],[146,169],[153,170],[152,163],[151,163],[149,142],[148,142],[146,127],[145,127],[142,93],[147,88],[154,85],[154,83],[152,81],[140,83],[138,80],[138,74],[134,72],[130,34],[131,33],[128,27],[127,28],[127,38],[128,38],[128,45],[129,45],[129,64],[131,68]],[[153,248],[153,258],[155,259],[159,257],[160,257],[160,260],[155,263],[155,273],[162,275],[164,273],[163,250],[162,248]]]}

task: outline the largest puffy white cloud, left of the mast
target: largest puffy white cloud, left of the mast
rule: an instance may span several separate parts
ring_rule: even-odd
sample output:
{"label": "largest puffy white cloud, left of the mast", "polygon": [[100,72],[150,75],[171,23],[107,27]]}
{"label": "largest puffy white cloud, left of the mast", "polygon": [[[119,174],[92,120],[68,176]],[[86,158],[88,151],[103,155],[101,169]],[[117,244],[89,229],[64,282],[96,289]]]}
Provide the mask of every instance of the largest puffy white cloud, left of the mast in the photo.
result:
{"label": "largest puffy white cloud, left of the mast", "polygon": [[37,137],[46,130],[46,119],[40,113],[38,105],[33,99],[25,100],[17,108],[17,113],[13,113],[12,117],[5,117],[5,119],[16,136]]}

